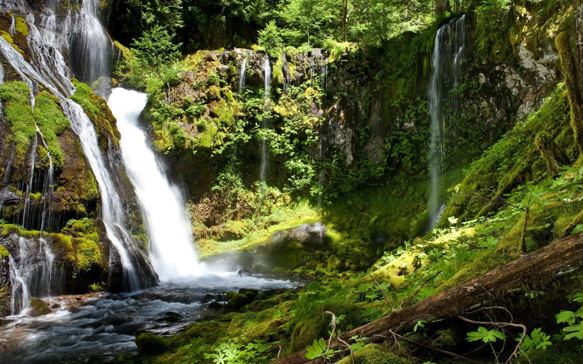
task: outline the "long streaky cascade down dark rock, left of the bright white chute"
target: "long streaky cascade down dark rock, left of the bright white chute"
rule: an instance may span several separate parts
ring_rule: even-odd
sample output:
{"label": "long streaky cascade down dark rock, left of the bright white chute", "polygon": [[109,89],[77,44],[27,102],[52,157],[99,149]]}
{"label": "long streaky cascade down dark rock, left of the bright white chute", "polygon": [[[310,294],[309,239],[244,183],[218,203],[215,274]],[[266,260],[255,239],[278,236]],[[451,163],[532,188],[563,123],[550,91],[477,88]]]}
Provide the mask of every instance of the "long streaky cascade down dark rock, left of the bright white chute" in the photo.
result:
{"label": "long streaky cascade down dark rock, left of the bright white chute", "polygon": [[[8,7],[20,9],[21,13],[24,13],[22,9],[27,9],[26,3],[20,1],[16,5],[15,3],[9,3]],[[83,12],[83,9],[80,12]],[[110,172],[106,168],[97,143],[97,134],[93,123],[85,114],[83,108],[68,98],[69,94],[75,90],[70,80],[71,73],[66,68],[65,58],[62,54],[62,49],[66,46],[68,20],[65,24],[57,27],[51,26],[48,29],[37,28],[32,15],[27,16],[27,21],[29,22],[30,47],[37,57],[31,63],[27,62],[4,39],[0,40],[0,51],[24,82],[31,86],[31,90],[37,90],[38,86],[43,85],[50,89],[61,101],[61,107],[69,121],[71,121],[73,132],[79,136],[83,153],[99,186],[102,220],[106,227],[107,237],[115,250],[117,250],[123,269],[122,289],[132,291],[146,287],[151,281],[143,278],[149,276],[149,272],[146,272],[149,268],[147,266],[143,267],[142,264],[141,271],[138,273],[136,270],[134,262],[139,263],[143,258],[135,246],[132,235],[125,228],[123,222],[125,211],[122,207],[120,196],[114,187]],[[101,31],[106,36],[103,28],[101,26],[97,27],[95,23],[77,23],[77,26],[81,26],[81,24],[92,26],[94,31]],[[99,23],[97,24],[99,25]],[[85,62],[94,63],[98,62],[98,60],[87,59]]]}

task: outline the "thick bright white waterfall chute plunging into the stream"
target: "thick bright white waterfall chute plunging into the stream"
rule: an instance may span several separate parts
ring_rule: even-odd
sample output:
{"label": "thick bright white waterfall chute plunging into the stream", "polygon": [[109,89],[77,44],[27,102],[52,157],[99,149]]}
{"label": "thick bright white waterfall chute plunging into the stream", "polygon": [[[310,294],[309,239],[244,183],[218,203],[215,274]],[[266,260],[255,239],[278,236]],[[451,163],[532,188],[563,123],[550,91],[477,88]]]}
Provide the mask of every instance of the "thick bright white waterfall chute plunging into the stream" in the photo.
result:
{"label": "thick bright white waterfall chute plunging into the stream", "polygon": [[200,270],[184,200],[180,190],[168,182],[164,167],[139,128],[146,100],[146,94],[118,87],[111,91],[108,104],[117,119],[124,164],[142,206],[150,259],[160,280],[196,275]]}

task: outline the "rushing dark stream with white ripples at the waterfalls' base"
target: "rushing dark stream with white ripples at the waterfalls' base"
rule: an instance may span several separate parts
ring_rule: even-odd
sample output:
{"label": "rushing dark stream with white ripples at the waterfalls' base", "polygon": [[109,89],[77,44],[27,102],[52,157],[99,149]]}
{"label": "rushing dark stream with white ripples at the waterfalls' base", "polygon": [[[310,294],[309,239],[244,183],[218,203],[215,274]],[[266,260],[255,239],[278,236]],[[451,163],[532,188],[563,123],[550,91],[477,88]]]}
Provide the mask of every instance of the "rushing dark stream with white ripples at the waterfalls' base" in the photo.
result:
{"label": "rushing dark stream with white ripples at the waterfalls' base", "polygon": [[[161,283],[157,287],[124,294],[66,295],[45,298],[59,305],[39,317],[0,318],[0,362],[90,363],[137,352],[134,338],[145,331],[177,334],[187,324],[212,319],[225,310],[208,309],[205,294],[223,294],[239,288],[291,289],[298,281],[271,275],[240,277],[214,273]],[[56,307],[55,305],[55,307]]]}

